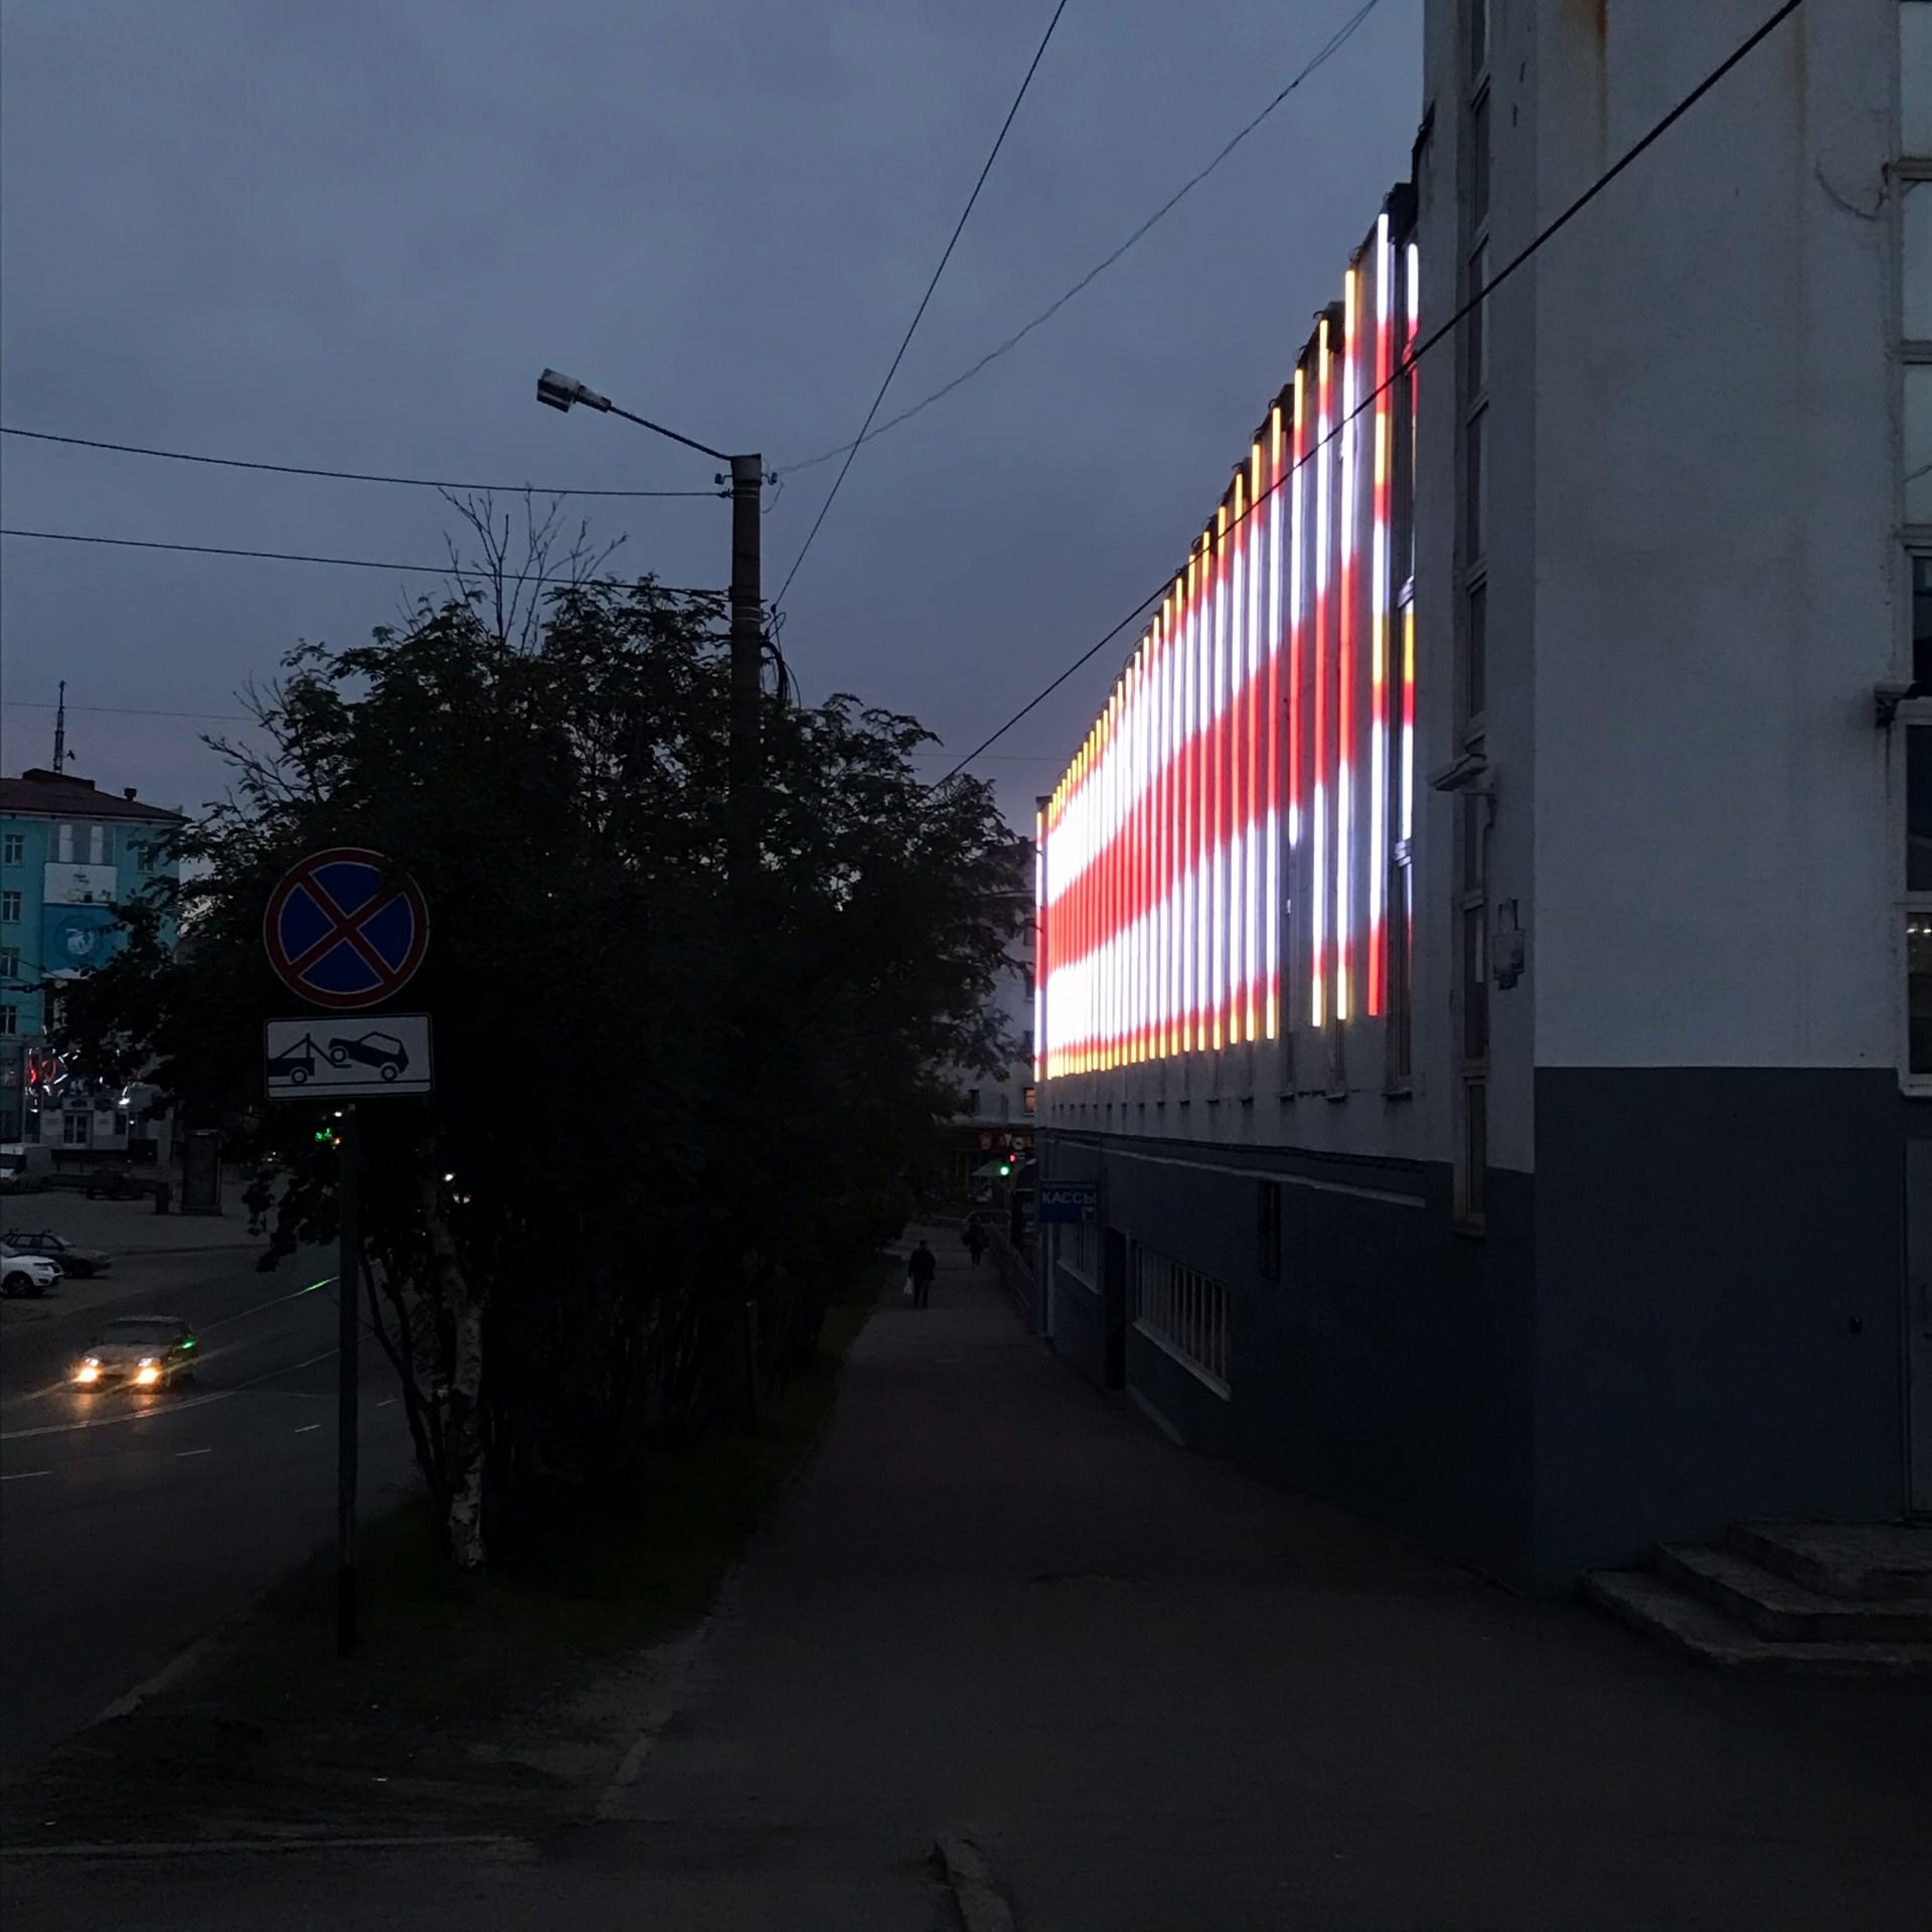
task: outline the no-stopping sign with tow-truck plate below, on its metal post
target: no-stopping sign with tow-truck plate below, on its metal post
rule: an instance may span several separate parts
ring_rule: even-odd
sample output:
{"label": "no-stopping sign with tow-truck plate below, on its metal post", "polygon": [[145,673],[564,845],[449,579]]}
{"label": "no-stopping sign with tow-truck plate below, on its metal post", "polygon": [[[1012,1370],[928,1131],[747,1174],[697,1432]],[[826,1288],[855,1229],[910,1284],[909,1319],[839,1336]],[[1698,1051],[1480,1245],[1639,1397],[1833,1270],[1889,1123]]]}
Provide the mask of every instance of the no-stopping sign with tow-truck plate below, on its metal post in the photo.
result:
{"label": "no-stopping sign with tow-truck plate below, on its metal post", "polygon": [[[357,1097],[431,1090],[429,1014],[369,1012],[394,999],[429,949],[429,906],[381,852],[311,852],[269,895],[263,947],[276,978],[328,1020],[270,1020],[270,1099],[340,1097],[336,1134],[336,1656],[355,1648],[357,1370],[361,1356],[361,1134]],[[357,1018],[340,1018],[357,1014]],[[367,1018],[361,1018],[367,1016]]]}

